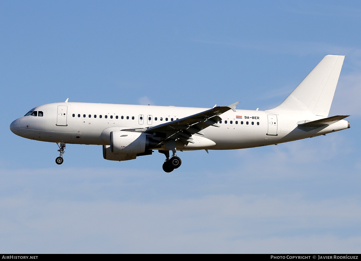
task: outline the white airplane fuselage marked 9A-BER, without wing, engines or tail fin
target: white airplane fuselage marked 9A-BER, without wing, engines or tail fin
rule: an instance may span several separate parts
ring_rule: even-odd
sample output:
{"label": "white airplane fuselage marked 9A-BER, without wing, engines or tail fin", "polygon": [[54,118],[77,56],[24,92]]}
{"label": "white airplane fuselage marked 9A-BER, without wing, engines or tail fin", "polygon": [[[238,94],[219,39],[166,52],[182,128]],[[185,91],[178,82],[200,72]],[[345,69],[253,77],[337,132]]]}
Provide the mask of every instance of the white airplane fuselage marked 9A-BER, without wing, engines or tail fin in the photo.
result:
{"label": "white airplane fuselage marked 9A-BER, without wing, engines or tail fin", "polygon": [[[23,116],[10,125],[18,136],[38,141],[73,144],[109,145],[114,130],[147,128],[205,111],[205,108],[119,105],[103,103],[62,102],[35,107],[43,116]],[[272,145],[319,136],[346,129],[340,120],[319,128],[302,128],[302,120],[326,118],[305,111],[229,110],[218,125],[203,129],[204,136],[193,134],[195,143],[177,143],[177,150],[230,150]]]}

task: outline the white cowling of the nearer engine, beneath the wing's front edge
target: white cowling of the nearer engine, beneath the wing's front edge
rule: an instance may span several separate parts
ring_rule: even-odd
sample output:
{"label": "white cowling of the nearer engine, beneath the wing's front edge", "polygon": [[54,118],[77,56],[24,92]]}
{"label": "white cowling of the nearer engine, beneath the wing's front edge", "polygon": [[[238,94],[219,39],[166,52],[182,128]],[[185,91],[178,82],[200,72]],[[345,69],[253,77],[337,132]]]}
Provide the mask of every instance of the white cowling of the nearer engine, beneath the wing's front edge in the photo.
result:
{"label": "white cowling of the nearer engine, beneath the wing's front edge", "polygon": [[147,135],[123,130],[110,132],[110,151],[115,154],[138,154],[145,151]]}

